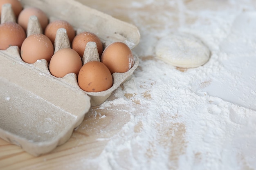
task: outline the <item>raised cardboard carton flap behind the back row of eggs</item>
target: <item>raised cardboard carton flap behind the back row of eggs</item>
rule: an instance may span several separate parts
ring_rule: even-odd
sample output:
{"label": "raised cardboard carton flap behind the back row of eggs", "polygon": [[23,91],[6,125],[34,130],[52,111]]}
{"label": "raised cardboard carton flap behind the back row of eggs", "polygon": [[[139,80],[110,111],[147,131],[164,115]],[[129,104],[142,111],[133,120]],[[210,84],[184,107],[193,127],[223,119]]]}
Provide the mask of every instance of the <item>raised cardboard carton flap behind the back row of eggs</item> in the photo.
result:
{"label": "raised cardboard carton flap behind the back row of eggs", "polygon": [[96,34],[105,46],[112,42],[124,42],[130,49],[139,44],[140,33],[136,26],[87,7],[74,0],[20,0],[24,7],[37,7],[50,20],[66,20],[78,32],[90,31]]}

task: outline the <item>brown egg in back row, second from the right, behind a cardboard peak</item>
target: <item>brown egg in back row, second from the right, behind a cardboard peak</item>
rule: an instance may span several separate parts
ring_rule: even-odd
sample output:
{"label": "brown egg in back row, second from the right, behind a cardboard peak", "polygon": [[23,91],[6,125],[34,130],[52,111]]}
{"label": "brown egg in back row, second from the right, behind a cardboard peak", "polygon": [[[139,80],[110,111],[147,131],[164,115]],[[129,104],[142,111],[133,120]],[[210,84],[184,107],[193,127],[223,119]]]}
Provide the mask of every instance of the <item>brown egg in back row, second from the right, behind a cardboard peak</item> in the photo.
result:
{"label": "brown egg in back row, second from the right, behind a cardboard peak", "polygon": [[75,36],[72,42],[72,49],[79,53],[80,57],[83,57],[85,46],[88,42],[96,42],[99,56],[101,57],[103,46],[102,42],[97,35],[91,32],[82,32]]}

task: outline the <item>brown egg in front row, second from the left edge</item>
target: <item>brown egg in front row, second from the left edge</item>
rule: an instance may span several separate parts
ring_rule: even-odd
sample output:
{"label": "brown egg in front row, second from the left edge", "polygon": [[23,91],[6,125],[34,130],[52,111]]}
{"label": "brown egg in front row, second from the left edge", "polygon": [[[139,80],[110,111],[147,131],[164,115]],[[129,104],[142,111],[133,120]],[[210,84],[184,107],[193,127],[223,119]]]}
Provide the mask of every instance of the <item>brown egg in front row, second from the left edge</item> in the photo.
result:
{"label": "brown egg in front row, second from the left edge", "polygon": [[24,62],[34,63],[45,59],[49,63],[54,53],[51,40],[43,34],[32,34],[21,45],[20,55]]}

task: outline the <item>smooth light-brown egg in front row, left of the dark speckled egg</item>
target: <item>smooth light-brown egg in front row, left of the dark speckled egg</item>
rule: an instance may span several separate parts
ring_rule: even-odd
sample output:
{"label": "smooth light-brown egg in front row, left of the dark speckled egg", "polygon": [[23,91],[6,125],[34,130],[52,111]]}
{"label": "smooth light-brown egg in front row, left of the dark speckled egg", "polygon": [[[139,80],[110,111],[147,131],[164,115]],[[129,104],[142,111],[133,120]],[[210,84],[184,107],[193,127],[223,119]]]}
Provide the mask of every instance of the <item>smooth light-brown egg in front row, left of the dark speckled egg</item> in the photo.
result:
{"label": "smooth light-brown egg in front row, left of the dark speckled egg", "polygon": [[68,48],[57,51],[49,63],[49,71],[55,77],[64,77],[68,73],[78,75],[81,67],[82,60],[79,54]]}

